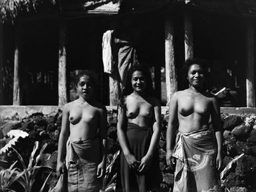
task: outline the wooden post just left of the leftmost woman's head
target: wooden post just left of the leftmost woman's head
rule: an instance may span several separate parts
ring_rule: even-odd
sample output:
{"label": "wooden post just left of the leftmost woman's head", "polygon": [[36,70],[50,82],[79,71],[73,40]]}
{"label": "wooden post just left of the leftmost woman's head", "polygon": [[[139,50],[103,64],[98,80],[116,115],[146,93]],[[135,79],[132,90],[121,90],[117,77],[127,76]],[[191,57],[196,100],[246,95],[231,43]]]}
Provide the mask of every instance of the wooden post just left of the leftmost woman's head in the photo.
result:
{"label": "wooden post just left of the leftmost woman's head", "polygon": [[66,92],[66,23],[60,23],[60,37],[59,37],[59,106],[64,106],[67,102]]}

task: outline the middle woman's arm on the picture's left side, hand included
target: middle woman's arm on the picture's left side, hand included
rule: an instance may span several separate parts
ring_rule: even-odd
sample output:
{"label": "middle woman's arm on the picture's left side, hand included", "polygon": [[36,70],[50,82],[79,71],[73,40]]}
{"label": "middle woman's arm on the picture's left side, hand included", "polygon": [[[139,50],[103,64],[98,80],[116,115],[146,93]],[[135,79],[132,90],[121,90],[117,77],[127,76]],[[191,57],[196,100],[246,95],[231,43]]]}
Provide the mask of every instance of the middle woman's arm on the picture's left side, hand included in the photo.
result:
{"label": "middle woman's arm on the picture's left side, hand included", "polygon": [[126,106],[121,108],[119,106],[118,108],[118,122],[117,122],[117,136],[118,136],[118,142],[122,148],[122,152],[124,153],[124,156],[126,157],[126,161],[130,168],[136,169],[138,167],[138,163],[140,161],[137,161],[134,155],[130,152],[129,149],[129,142],[126,135],[126,125],[127,125],[127,118],[126,118]]}

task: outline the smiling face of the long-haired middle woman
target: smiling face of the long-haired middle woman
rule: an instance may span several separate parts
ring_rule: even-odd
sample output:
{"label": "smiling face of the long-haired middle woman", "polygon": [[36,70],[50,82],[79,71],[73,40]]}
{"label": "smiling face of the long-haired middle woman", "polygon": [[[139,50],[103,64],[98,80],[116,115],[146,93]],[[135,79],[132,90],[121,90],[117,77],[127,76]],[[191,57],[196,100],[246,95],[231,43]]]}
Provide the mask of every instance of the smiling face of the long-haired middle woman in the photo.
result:
{"label": "smiling face of the long-haired middle woman", "polygon": [[142,71],[134,71],[132,74],[132,88],[140,93],[146,89],[146,78]]}

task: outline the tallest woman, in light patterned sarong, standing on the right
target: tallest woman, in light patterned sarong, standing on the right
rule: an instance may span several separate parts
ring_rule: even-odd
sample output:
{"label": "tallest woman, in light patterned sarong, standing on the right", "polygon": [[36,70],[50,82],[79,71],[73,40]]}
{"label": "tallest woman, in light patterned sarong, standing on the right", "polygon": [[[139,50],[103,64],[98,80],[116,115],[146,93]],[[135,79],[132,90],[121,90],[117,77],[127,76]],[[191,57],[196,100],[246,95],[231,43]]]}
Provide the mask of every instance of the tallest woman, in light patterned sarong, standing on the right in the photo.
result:
{"label": "tallest woman, in light patterned sarong, standing on the right", "polygon": [[176,92],[170,101],[166,161],[171,166],[172,156],[176,158],[174,192],[220,191],[217,170],[223,161],[223,128],[217,99],[203,91],[206,72],[204,60],[187,60],[189,88]]}

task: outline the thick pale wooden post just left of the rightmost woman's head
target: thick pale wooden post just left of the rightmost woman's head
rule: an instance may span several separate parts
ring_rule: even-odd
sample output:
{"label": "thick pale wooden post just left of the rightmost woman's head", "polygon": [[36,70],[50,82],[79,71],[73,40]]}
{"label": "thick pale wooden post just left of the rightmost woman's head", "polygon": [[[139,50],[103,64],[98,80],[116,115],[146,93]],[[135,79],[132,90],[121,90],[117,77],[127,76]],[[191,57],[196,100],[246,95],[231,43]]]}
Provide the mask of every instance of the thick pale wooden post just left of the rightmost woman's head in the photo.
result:
{"label": "thick pale wooden post just left of the rightmost woman's head", "polygon": [[166,15],[166,94],[167,106],[172,95],[178,90],[177,70],[174,60],[174,23],[170,15]]}

